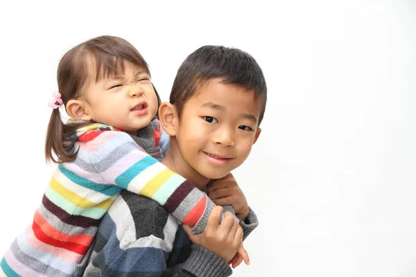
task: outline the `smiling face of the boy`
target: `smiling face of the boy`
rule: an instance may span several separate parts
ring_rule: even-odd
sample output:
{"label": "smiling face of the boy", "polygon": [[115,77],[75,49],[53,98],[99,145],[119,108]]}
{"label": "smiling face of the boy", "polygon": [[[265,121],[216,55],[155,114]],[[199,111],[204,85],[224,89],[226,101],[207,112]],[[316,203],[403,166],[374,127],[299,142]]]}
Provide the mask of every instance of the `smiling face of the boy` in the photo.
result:
{"label": "smiling face of the boy", "polygon": [[239,167],[261,131],[260,98],[254,100],[254,91],[222,80],[213,78],[196,90],[175,128],[184,161],[209,179]]}

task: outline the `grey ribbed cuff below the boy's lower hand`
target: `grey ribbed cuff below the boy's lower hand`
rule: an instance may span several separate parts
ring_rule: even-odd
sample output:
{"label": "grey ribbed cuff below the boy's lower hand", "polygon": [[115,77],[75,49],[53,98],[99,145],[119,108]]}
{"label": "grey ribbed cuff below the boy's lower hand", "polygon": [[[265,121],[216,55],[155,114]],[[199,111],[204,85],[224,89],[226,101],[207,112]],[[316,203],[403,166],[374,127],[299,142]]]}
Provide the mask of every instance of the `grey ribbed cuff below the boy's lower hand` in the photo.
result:
{"label": "grey ribbed cuff below the boy's lower hand", "polygon": [[223,277],[232,274],[231,267],[223,258],[197,244],[192,244],[191,255],[182,268],[197,277]]}

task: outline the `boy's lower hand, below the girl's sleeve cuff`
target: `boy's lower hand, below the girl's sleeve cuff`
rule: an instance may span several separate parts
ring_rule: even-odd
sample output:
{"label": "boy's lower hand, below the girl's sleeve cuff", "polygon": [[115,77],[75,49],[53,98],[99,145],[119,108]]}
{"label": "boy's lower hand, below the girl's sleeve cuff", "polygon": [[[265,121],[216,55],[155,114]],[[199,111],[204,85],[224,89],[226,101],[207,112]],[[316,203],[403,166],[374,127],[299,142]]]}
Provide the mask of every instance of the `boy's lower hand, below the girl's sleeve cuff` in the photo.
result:
{"label": "boy's lower hand, below the girl's sleeve cuff", "polygon": [[183,229],[191,242],[216,253],[225,262],[230,262],[239,251],[240,256],[248,264],[248,253],[243,247],[243,229],[230,212],[225,212],[224,218],[219,224],[222,211],[221,206],[216,206],[212,210],[207,227],[200,234],[191,233],[191,227],[186,224],[183,225]]}

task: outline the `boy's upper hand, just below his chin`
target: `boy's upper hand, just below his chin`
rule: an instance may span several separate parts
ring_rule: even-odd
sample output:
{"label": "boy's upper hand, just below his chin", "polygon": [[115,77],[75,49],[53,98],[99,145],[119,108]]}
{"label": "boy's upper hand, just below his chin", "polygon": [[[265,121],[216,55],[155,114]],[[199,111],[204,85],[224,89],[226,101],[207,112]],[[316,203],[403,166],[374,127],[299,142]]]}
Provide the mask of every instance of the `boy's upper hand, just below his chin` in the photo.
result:
{"label": "boy's upper hand, just below his chin", "polygon": [[239,220],[248,216],[247,200],[231,173],[211,181],[207,186],[207,195],[218,206],[232,205]]}

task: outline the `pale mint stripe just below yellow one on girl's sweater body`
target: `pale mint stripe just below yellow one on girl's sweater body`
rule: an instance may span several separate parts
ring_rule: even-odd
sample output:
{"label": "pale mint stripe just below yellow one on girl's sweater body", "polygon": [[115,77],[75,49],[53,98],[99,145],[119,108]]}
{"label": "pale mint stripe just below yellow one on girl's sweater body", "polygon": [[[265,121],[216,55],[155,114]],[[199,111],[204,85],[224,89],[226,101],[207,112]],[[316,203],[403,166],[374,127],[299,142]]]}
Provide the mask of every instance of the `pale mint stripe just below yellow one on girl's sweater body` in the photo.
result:
{"label": "pale mint stripe just below yellow one on girl's sweater body", "polygon": [[50,186],[46,188],[45,195],[49,200],[51,200],[51,202],[53,202],[56,206],[64,209],[70,215],[83,215],[85,217],[91,217],[95,220],[99,220],[107,212],[107,210],[104,208],[80,208],[75,206],[69,202],[68,199],[55,192],[55,190],[53,190]]}

